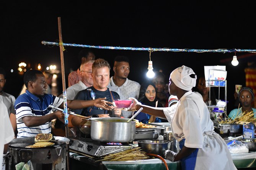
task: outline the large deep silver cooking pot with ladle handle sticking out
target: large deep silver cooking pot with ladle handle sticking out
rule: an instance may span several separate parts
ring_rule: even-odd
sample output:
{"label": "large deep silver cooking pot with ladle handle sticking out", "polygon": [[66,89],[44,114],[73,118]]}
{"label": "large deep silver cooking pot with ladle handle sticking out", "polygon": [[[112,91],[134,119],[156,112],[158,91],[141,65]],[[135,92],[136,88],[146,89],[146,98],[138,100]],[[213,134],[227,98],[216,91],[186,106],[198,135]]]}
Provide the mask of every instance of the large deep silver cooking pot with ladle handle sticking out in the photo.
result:
{"label": "large deep silver cooking pot with ladle handle sticking out", "polygon": [[131,142],[135,138],[135,121],[118,117],[91,119],[91,139],[103,142]]}

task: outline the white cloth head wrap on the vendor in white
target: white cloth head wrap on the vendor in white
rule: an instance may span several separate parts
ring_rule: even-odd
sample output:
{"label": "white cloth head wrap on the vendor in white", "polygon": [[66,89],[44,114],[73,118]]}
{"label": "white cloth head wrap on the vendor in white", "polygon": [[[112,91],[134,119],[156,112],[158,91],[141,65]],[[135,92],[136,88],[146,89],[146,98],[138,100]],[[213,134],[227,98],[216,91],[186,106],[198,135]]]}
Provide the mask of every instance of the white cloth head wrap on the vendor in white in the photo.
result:
{"label": "white cloth head wrap on the vendor in white", "polygon": [[195,74],[194,71],[183,65],[171,72],[171,80],[177,87],[189,91],[196,86],[196,75],[195,78],[191,78],[191,74]]}

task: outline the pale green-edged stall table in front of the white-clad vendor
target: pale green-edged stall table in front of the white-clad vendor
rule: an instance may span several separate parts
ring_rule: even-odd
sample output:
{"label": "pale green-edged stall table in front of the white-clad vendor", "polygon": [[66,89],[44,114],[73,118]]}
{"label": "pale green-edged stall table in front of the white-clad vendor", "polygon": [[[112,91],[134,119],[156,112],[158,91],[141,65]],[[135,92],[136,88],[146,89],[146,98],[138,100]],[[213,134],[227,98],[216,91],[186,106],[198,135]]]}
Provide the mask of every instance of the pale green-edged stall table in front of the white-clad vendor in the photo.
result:
{"label": "pale green-edged stall table in front of the white-clad vendor", "polygon": [[[72,158],[71,169],[83,166],[83,164],[85,167],[86,164],[88,164],[86,167],[94,166],[95,168],[102,170],[165,170],[165,165],[160,159],[95,162],[93,158],[89,158],[73,152],[70,152],[70,157]],[[232,159],[236,168],[256,168],[256,152],[249,152],[246,154],[232,154]],[[170,170],[181,170],[180,161],[171,162],[169,160],[166,160],[166,163],[168,164]]]}

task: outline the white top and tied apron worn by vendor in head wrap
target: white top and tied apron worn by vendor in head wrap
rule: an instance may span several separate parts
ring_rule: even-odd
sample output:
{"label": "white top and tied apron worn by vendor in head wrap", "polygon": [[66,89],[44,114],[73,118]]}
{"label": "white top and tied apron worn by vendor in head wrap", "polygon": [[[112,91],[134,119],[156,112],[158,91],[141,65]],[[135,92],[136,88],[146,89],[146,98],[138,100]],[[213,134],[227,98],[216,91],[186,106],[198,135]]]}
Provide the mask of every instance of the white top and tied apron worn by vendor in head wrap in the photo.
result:
{"label": "white top and tied apron worn by vendor in head wrap", "polygon": [[171,120],[174,138],[185,139],[188,148],[198,148],[195,170],[236,170],[227,144],[213,131],[207,106],[195,95],[188,91],[177,103]]}

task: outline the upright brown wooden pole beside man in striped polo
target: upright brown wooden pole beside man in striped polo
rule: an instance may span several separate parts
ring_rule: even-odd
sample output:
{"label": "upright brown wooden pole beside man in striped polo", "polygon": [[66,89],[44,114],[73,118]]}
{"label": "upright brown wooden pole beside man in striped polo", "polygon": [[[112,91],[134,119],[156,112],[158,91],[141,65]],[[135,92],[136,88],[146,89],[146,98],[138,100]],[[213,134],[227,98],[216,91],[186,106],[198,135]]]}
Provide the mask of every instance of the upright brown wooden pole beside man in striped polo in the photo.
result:
{"label": "upright brown wooden pole beside man in striped polo", "polygon": [[[64,55],[63,55],[63,42],[62,42],[62,31],[61,31],[61,20],[58,17],[58,27],[59,27],[59,40],[60,40],[60,62],[61,62],[61,75],[62,75],[62,89],[66,91],[66,83],[65,83],[65,68],[64,68]],[[67,97],[66,95],[63,96]],[[66,101],[67,99],[64,99]],[[64,102],[65,108],[65,102]],[[65,123],[65,132],[66,138],[68,138],[68,124]],[[69,170],[69,145],[67,144],[67,170]]]}

